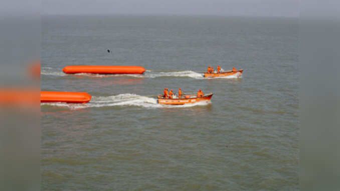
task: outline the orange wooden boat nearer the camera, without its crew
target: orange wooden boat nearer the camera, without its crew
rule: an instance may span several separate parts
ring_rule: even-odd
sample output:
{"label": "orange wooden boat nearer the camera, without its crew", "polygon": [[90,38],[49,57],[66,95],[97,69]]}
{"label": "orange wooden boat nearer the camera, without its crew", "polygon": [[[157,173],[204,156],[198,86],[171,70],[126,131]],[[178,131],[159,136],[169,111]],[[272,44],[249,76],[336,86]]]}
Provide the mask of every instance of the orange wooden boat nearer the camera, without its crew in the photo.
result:
{"label": "orange wooden boat nearer the camera, without its crew", "polygon": [[173,96],[173,98],[165,98],[163,95],[158,95],[158,103],[160,104],[171,104],[171,105],[183,105],[188,103],[196,103],[200,101],[210,101],[213,93],[207,93],[202,97],[197,97],[196,94],[185,94],[181,98]]}

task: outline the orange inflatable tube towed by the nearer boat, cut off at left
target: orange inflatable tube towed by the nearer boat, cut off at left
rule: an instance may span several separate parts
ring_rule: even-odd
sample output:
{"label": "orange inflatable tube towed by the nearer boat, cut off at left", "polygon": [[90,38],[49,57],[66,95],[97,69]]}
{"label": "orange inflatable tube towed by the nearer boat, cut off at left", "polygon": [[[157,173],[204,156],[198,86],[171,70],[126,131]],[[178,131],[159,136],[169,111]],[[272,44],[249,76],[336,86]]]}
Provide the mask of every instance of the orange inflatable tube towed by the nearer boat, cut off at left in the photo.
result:
{"label": "orange inflatable tube towed by the nearer boat, cut off at left", "polygon": [[87,92],[41,91],[40,102],[87,103],[91,95]]}

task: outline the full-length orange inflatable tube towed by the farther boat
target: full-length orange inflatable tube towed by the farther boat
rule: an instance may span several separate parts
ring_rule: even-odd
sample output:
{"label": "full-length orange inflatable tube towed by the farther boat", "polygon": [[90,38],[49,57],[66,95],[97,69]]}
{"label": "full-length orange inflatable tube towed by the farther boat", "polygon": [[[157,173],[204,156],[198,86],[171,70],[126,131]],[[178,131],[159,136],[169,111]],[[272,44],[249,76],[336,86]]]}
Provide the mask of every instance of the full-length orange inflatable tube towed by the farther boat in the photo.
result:
{"label": "full-length orange inflatable tube towed by the farther boat", "polygon": [[103,74],[142,74],[142,66],[124,65],[68,65],[63,68],[65,73],[103,73]]}

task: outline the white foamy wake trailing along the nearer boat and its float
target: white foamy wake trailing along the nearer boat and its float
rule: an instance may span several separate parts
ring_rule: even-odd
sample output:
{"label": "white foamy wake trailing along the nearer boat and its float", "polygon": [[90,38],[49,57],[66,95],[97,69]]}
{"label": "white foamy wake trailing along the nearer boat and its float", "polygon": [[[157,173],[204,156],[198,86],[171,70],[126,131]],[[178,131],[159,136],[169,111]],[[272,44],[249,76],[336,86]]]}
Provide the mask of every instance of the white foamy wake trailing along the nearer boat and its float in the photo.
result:
{"label": "white foamy wake trailing along the nearer boat and its float", "polygon": [[69,107],[70,109],[89,108],[89,107],[110,107],[110,106],[139,106],[145,108],[167,108],[167,107],[192,107],[196,105],[207,105],[210,101],[201,101],[184,105],[163,105],[157,103],[156,98],[141,96],[137,94],[118,94],[112,96],[92,96],[88,103],[41,103],[41,105],[51,105],[60,107]]}

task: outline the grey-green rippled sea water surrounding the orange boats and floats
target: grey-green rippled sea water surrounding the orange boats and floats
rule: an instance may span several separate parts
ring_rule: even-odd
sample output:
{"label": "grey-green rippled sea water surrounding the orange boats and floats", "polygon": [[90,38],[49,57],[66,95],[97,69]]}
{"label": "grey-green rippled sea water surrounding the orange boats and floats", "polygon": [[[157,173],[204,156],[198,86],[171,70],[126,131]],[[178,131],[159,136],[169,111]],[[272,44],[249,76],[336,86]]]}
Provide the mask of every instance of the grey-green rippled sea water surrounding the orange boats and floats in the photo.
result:
{"label": "grey-green rippled sea water surrounding the orange boats and floats", "polygon": [[[111,53],[107,52],[111,50]],[[43,16],[42,190],[297,190],[298,20]],[[206,79],[208,65],[243,68]],[[66,65],[141,65],[143,75],[68,75]],[[213,92],[162,106],[156,94]]]}

